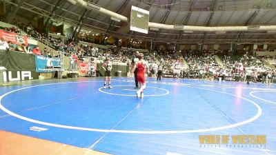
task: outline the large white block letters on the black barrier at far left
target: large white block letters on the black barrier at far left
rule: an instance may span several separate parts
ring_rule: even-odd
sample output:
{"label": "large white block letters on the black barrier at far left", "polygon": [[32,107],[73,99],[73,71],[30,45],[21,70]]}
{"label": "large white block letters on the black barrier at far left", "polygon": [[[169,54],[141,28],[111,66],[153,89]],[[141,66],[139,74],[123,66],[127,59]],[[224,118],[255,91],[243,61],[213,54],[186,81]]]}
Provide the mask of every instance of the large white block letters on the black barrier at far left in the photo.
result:
{"label": "large white block letters on the black barrier at far left", "polygon": [[[20,74],[21,72],[21,74]],[[7,72],[3,72],[3,81],[21,81],[25,80],[25,78],[28,78],[29,80],[32,80],[32,72],[30,71],[17,71],[17,77],[12,77],[12,71],[8,71],[8,76]]]}

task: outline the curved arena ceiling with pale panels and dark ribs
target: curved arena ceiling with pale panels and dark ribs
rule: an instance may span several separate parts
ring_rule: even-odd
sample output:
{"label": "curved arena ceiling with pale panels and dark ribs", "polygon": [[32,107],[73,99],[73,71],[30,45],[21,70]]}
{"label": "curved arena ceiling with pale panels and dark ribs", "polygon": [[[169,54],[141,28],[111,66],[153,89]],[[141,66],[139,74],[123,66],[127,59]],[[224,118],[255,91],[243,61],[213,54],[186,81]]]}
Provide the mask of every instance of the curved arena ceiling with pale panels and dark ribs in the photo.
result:
{"label": "curved arena ceiling with pale panels and dark ribs", "polygon": [[[1,0],[17,6],[19,0]],[[49,16],[57,0],[22,0],[18,14],[34,19]],[[92,0],[92,3],[130,17],[131,6],[150,11],[150,22],[172,25],[232,26],[276,25],[275,0]],[[76,24],[86,8],[61,0],[54,18]],[[28,15],[27,15],[28,14]],[[148,34],[132,32],[124,21],[112,21],[97,10],[87,10],[83,26],[117,37],[166,43],[275,43],[274,31],[248,32],[185,32],[150,30]]]}

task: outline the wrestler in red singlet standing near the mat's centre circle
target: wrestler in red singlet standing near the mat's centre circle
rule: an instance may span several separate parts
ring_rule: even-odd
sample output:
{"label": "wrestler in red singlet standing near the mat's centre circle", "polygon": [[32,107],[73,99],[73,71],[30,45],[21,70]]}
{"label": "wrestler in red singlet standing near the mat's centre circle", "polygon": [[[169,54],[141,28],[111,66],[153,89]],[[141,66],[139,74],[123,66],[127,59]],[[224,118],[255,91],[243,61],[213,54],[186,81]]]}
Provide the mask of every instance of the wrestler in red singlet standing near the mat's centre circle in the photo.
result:
{"label": "wrestler in red singlet standing near the mat's centre circle", "polygon": [[138,98],[144,97],[144,89],[146,88],[146,79],[145,79],[145,72],[148,72],[148,63],[144,61],[144,54],[139,54],[138,56],[139,61],[135,63],[135,66],[132,68],[131,74],[135,72],[137,68],[137,80],[139,82],[140,89],[136,92]]}

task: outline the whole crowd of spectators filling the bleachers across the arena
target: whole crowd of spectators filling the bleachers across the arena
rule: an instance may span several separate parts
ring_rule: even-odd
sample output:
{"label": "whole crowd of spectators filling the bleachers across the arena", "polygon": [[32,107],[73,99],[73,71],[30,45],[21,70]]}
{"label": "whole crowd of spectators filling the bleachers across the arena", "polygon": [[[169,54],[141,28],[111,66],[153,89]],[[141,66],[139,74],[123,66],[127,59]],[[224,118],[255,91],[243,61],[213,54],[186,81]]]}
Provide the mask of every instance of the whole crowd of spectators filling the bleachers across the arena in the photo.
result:
{"label": "whole crowd of spectators filling the bleachers across the arena", "polygon": [[[67,56],[74,57],[74,59],[82,60],[85,57],[92,57],[99,63],[110,57],[112,61],[117,63],[126,63],[130,65],[132,54],[135,51],[131,49],[119,49],[115,46],[110,48],[96,48],[89,44],[77,43],[68,39],[46,37],[34,29],[31,23],[22,24],[17,23],[18,28],[3,28],[6,32],[14,32],[22,35],[26,32],[28,37],[37,39],[54,50],[64,52]],[[0,39],[0,50],[14,50],[18,52],[25,52],[26,54],[38,54],[46,56],[57,56],[53,50],[44,48],[40,50],[38,46],[26,46],[24,43],[17,45],[11,41],[6,41],[3,37]],[[155,76],[158,66],[162,66],[164,74],[179,74],[177,77],[193,78],[193,79],[219,79],[229,81],[246,81],[246,75],[252,75],[251,81],[266,81],[267,76],[272,76],[271,81],[276,82],[275,70],[270,70],[264,65],[264,60],[275,60],[275,56],[263,56],[257,58],[248,54],[248,52],[238,52],[233,55],[227,50],[182,50],[181,54],[175,50],[157,50],[153,54],[144,53],[145,60],[150,63],[150,74]],[[222,65],[217,63],[215,56],[219,56]],[[184,60],[183,60],[184,59]],[[188,68],[184,68],[184,61],[186,61]],[[249,72],[250,71],[250,72]]]}

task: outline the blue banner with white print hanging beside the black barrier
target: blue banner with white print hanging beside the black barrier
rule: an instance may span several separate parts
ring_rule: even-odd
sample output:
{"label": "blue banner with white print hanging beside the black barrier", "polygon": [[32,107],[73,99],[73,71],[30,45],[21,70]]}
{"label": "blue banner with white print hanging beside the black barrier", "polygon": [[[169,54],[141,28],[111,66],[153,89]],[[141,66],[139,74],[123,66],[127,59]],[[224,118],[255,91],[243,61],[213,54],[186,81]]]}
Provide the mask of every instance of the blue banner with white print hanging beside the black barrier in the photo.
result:
{"label": "blue banner with white print hanging beside the black barrier", "polygon": [[35,56],[35,71],[36,72],[53,72],[50,68],[59,66],[59,58],[50,58],[48,56]]}

